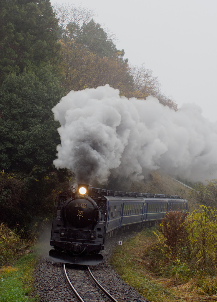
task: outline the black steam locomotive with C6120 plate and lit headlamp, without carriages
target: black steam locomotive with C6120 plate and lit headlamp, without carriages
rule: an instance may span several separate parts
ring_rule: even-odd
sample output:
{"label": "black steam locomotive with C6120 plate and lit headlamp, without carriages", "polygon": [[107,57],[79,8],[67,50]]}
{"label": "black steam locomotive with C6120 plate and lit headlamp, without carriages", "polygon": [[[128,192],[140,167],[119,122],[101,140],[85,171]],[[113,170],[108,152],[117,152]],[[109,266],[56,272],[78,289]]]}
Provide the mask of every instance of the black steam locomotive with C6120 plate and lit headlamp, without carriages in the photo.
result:
{"label": "black steam locomotive with C6120 plate and lit headlamp, without carriages", "polygon": [[102,261],[107,200],[89,185],[78,184],[57,195],[50,257],[58,262],[96,265]]}

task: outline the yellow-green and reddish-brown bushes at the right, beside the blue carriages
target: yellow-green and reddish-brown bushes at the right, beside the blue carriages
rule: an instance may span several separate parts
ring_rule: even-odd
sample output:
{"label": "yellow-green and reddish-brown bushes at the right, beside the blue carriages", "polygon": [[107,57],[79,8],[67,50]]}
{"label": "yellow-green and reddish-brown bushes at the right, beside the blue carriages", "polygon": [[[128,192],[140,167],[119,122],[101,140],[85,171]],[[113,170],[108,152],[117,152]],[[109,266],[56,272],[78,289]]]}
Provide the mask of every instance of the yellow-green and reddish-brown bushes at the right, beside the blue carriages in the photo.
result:
{"label": "yellow-green and reddish-brown bushes at the right, beside the blue carriages", "polygon": [[217,272],[217,210],[201,205],[190,214],[170,211],[158,226],[157,248],[191,274]]}

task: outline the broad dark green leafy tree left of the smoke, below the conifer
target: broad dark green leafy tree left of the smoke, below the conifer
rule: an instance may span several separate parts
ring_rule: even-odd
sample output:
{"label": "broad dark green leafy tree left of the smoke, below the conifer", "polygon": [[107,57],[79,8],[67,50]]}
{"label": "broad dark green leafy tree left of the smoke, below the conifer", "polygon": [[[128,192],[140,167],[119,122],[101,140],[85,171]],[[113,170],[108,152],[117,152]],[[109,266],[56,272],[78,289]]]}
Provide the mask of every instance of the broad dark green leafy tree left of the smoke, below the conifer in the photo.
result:
{"label": "broad dark green leafy tree left of the smoke, below the conifer", "polygon": [[0,87],[1,169],[24,175],[37,171],[38,178],[51,171],[60,143],[51,108],[61,96],[47,65],[37,76],[25,71],[7,76]]}

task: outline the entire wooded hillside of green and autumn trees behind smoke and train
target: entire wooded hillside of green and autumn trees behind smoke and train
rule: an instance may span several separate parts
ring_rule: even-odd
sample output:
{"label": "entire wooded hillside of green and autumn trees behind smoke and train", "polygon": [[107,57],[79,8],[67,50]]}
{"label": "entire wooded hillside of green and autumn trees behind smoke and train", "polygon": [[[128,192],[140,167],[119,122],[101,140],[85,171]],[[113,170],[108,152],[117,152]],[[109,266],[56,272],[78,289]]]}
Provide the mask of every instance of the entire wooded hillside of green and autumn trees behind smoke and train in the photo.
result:
{"label": "entire wooded hillside of green and autumn trees behind smoke and train", "polygon": [[49,214],[73,176],[52,163],[60,138],[51,109],[69,91],[109,84],[121,96],[153,95],[178,110],[151,70],[129,65],[95,16],[81,5],[1,0],[0,220],[9,226]]}

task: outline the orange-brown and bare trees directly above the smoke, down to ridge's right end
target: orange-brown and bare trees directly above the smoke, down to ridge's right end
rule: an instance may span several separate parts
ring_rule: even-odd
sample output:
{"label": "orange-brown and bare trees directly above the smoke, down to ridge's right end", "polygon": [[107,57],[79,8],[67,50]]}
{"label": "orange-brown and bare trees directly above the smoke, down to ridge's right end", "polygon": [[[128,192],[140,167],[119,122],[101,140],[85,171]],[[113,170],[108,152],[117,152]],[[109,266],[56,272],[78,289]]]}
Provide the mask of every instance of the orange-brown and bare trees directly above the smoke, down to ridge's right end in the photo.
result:
{"label": "orange-brown and bare trees directly above the smoke, down to ridge's right end", "polygon": [[[70,28],[70,27],[69,27]],[[129,66],[123,59],[124,51],[102,56],[84,47],[76,39],[61,39],[60,65],[58,72],[65,92],[85,88],[97,88],[109,84],[118,89],[121,96],[146,99],[148,95],[158,98],[160,103],[175,111],[177,104],[160,90],[161,84],[150,69]],[[93,46],[91,47],[93,50]]]}

